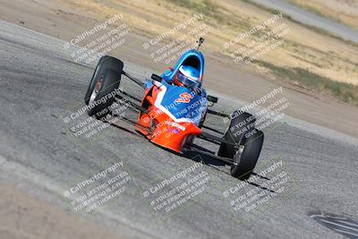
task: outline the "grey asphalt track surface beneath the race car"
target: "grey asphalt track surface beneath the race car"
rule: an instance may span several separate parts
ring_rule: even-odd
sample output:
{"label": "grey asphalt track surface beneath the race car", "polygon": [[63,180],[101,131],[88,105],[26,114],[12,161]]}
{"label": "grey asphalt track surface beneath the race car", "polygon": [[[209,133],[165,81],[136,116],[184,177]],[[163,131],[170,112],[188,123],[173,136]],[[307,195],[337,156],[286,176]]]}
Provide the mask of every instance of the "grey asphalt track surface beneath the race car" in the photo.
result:
{"label": "grey asphalt track surface beneath the race car", "polygon": [[[235,213],[223,193],[240,181],[227,174],[228,166],[203,156],[209,165],[198,170],[209,176],[205,192],[173,213],[150,209],[143,192],[153,182],[192,166],[198,158],[160,149],[125,123],[110,126],[94,141],[76,141],[63,116],[72,113],[75,102],[82,102],[94,66],[73,63],[59,39],[4,21],[0,29],[2,180],[21,185],[28,193],[124,238],[340,238],[342,235],[311,218],[311,213],[357,218],[357,140],[289,117],[264,130],[265,144],[255,171],[282,160],[290,180],[285,193],[260,210]],[[151,73],[130,63],[125,70],[141,77]],[[140,90],[127,87],[140,96]],[[231,112],[242,101],[220,96],[220,102],[217,110]],[[225,128],[219,119],[209,118],[208,123]],[[201,145],[212,149],[209,143]],[[91,214],[74,212],[64,192],[78,178],[111,165],[107,158],[122,161],[130,172],[125,192]],[[270,179],[271,175],[260,178],[237,195],[251,189],[268,192],[262,185]]]}

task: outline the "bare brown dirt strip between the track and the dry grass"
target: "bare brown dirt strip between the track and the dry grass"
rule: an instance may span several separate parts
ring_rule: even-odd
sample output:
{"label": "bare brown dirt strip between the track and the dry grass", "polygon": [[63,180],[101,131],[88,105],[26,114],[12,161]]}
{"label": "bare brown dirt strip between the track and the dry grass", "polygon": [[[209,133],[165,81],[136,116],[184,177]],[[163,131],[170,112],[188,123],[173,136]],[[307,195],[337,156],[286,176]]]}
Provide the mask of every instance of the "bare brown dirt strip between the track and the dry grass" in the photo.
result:
{"label": "bare brown dirt strip between the track and the dry grass", "polygon": [[[13,0],[9,2],[0,0],[0,4],[2,5],[1,19],[64,40],[70,40],[83,30],[91,29],[98,24],[96,12],[64,4],[64,1]],[[133,4],[136,3],[133,2]],[[95,8],[96,5],[91,7]],[[98,9],[98,11],[100,10]],[[129,13],[132,10],[123,9],[123,11]],[[147,21],[150,22],[150,19]],[[165,70],[164,64],[155,63],[149,53],[143,50],[143,43],[148,42],[147,37],[140,36],[136,32],[128,36],[127,42],[129,44],[124,44],[111,54],[124,59],[124,61],[132,61],[154,69],[158,73]],[[208,46],[204,45],[202,50],[207,57],[205,81],[209,90],[251,102],[268,94],[274,88],[284,85],[285,96],[291,103],[287,115],[358,138],[358,122],[356,120],[358,109],[356,107],[344,104],[327,95],[318,95],[283,81],[272,80],[260,72],[255,73],[255,69],[250,66],[227,64],[222,55],[210,52]]]}

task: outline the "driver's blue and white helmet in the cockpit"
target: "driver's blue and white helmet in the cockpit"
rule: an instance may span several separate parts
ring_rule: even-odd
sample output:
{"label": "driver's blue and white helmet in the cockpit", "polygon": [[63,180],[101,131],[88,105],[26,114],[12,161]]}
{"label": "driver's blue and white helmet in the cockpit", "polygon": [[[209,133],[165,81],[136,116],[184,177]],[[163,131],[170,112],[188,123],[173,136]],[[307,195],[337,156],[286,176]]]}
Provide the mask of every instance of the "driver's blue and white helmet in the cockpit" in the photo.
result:
{"label": "driver's blue and white helmet in the cockpit", "polygon": [[200,73],[190,65],[181,65],[175,74],[174,82],[178,86],[196,89],[200,84]]}

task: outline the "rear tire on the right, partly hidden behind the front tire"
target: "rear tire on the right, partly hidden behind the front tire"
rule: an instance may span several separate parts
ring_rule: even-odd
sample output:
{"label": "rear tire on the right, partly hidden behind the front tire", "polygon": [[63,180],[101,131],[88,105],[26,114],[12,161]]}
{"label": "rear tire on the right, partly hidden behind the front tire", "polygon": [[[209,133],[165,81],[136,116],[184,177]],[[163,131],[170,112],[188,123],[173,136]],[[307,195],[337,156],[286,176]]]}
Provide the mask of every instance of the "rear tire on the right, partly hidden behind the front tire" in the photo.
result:
{"label": "rear tire on the right, partly hidden behind the front tire", "polygon": [[[246,112],[236,111],[232,114],[230,124],[224,134],[226,141],[232,141],[240,144],[243,135],[254,128],[256,118]],[[234,158],[236,150],[230,144],[221,143],[217,155],[224,158]]]}

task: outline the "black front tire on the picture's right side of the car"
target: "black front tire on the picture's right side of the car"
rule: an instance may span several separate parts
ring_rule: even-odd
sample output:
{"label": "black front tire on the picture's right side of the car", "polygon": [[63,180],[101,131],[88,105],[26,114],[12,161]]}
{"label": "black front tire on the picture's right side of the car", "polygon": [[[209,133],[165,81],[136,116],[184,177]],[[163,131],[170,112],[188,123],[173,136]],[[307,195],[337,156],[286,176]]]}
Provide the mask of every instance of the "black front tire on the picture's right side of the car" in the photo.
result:
{"label": "black front tire on the picture's right side of the car", "polygon": [[257,129],[253,129],[251,133],[253,134],[248,138],[243,136],[244,143],[240,146],[243,147],[243,151],[236,151],[234,165],[230,169],[230,174],[240,180],[249,179],[263,145],[264,133]]}

